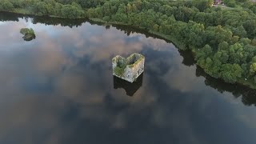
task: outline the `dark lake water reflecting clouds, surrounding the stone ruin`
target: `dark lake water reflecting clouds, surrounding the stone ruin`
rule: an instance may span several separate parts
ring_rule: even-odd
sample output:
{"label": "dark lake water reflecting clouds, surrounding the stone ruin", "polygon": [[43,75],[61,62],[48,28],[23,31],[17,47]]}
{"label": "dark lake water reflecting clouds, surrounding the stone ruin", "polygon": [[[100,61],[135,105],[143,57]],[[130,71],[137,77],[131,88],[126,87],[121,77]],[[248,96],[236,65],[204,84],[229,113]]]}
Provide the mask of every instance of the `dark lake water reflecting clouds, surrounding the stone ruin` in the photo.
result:
{"label": "dark lake water reflecting clouds, surrounding the stone ruin", "polygon": [[[86,20],[0,19],[1,144],[256,142],[255,91],[210,78],[170,42]],[[146,70],[130,85],[111,58],[134,52]]]}

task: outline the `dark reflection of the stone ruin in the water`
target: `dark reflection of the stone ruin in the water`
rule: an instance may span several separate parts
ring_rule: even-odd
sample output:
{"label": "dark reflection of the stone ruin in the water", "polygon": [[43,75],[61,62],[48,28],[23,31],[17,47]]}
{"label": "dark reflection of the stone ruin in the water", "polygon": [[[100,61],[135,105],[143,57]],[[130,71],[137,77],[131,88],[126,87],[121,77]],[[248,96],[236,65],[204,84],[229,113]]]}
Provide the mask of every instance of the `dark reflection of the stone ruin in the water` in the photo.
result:
{"label": "dark reflection of the stone ruin in the water", "polygon": [[142,86],[143,73],[133,83],[126,82],[125,80],[113,76],[114,89],[123,88],[126,90],[126,94],[133,96],[136,91]]}

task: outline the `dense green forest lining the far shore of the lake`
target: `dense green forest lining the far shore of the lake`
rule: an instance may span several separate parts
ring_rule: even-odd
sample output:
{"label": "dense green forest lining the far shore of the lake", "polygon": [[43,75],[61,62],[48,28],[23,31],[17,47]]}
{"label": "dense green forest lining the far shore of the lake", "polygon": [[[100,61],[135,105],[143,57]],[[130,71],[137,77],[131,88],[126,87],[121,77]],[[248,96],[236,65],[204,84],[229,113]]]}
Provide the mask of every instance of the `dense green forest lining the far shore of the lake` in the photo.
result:
{"label": "dense green forest lining the far shore of the lake", "polygon": [[256,2],[0,0],[0,11],[134,26],[191,50],[211,77],[256,89]]}

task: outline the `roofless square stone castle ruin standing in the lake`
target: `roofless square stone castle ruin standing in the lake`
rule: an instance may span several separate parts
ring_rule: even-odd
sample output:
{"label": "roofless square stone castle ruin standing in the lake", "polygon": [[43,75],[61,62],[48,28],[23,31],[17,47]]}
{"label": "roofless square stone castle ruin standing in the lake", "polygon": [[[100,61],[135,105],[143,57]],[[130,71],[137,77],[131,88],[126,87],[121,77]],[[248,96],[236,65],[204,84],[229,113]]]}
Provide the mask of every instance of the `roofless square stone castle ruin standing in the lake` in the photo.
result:
{"label": "roofless square stone castle ruin standing in the lake", "polygon": [[113,75],[128,82],[134,82],[144,71],[145,57],[134,53],[128,58],[117,55],[112,59]]}

